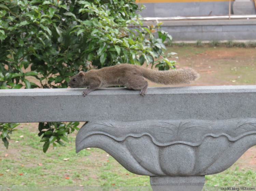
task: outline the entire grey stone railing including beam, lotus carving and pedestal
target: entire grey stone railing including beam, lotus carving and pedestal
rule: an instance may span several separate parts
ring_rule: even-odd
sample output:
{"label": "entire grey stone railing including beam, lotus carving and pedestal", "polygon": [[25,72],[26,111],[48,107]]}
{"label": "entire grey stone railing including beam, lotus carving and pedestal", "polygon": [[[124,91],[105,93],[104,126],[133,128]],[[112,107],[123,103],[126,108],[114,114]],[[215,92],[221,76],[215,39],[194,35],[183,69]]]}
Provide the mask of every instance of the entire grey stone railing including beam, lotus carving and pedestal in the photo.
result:
{"label": "entire grey stone railing including beam, lotus carving and pedestal", "polygon": [[[0,90],[0,122],[89,121],[76,151],[98,147],[153,190],[201,190],[256,145],[256,86]],[[159,187],[161,186],[161,187]],[[172,187],[179,186],[179,187]]]}

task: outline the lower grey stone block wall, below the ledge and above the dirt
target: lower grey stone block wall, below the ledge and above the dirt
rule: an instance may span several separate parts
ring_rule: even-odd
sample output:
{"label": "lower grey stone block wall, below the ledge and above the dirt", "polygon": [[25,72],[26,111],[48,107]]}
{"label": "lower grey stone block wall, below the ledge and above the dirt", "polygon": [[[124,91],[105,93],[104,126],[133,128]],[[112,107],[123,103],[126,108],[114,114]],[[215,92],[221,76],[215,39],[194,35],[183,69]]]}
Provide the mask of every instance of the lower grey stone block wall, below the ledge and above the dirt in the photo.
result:
{"label": "lower grey stone block wall, below the ledge and above the dirt", "polygon": [[[256,40],[256,19],[162,21],[174,41]],[[147,24],[156,21],[145,21]]]}

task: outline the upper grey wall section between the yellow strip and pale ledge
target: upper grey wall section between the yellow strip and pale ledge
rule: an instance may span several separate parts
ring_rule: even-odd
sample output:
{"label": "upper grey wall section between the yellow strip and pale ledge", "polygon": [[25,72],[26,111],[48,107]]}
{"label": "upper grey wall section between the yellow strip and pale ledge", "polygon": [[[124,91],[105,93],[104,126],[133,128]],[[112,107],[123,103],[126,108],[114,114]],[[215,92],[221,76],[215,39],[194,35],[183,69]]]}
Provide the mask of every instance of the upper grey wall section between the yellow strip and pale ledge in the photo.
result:
{"label": "upper grey wall section between the yellow strip and pale ledge", "polygon": [[[140,13],[142,17],[208,16],[229,14],[229,1],[155,2],[138,4],[143,4],[145,6],[145,9]],[[235,9],[234,12],[233,8]],[[254,1],[231,1],[231,14],[256,14]]]}

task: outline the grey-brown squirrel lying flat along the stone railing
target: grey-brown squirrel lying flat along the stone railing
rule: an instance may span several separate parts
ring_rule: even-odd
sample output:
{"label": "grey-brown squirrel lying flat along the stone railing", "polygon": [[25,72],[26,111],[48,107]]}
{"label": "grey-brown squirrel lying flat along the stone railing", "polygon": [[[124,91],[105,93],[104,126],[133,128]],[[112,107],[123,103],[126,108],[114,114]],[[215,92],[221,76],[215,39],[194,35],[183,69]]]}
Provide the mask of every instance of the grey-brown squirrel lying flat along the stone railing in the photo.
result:
{"label": "grey-brown squirrel lying flat along the stone railing", "polygon": [[129,89],[140,90],[140,94],[144,96],[147,92],[147,81],[144,77],[152,82],[167,85],[190,83],[197,80],[199,74],[191,68],[156,71],[132,64],[119,64],[87,72],[80,71],[70,79],[68,86],[87,87],[83,91],[86,96],[98,88],[123,85]]}

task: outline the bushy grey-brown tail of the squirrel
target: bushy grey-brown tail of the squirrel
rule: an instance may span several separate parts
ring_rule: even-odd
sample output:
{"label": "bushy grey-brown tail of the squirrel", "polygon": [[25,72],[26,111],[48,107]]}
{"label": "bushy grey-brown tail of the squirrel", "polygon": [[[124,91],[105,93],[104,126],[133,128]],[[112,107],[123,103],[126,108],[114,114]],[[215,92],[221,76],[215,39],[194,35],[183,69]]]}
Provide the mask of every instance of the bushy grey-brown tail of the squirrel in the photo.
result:
{"label": "bushy grey-brown tail of the squirrel", "polygon": [[143,69],[142,73],[146,79],[158,84],[190,83],[199,78],[199,74],[191,68],[165,71]]}

